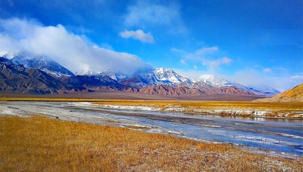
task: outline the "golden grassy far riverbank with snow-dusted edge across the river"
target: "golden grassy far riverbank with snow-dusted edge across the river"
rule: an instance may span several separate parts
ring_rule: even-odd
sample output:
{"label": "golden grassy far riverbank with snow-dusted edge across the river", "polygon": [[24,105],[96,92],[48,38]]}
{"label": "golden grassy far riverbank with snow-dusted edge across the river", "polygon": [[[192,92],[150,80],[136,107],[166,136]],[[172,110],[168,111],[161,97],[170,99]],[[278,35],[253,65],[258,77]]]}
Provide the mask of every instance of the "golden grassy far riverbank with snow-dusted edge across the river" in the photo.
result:
{"label": "golden grassy far riverbank with snow-dusted edge across the river", "polygon": [[94,104],[115,109],[303,119],[303,103],[107,100]]}

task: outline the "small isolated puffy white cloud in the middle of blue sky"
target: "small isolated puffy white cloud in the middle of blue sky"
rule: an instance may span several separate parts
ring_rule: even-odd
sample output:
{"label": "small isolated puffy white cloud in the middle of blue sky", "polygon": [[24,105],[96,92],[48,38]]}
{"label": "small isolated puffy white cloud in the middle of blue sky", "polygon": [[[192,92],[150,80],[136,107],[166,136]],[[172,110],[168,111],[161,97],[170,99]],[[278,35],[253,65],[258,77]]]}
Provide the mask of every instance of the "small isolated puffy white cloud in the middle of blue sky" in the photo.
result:
{"label": "small isolated puffy white cloud in the middle of blue sky", "polygon": [[142,30],[138,29],[136,31],[132,30],[124,30],[123,32],[120,32],[119,35],[124,38],[133,38],[138,39],[142,42],[147,43],[153,43],[154,42],[154,36],[151,35],[150,32],[144,33]]}

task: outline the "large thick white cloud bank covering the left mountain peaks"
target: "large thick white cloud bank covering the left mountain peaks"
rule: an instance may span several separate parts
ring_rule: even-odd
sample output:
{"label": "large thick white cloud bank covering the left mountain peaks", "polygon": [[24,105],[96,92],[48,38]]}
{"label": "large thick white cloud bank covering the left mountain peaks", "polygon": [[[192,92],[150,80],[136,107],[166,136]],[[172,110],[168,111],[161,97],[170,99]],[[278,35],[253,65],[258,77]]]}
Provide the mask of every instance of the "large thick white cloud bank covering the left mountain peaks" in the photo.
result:
{"label": "large thick white cloud bank covering the left mountain peaks", "polygon": [[42,26],[26,19],[0,19],[0,53],[28,51],[46,55],[73,72],[91,68],[133,73],[148,68],[136,55],[92,46],[84,35],[76,35],[62,25]]}

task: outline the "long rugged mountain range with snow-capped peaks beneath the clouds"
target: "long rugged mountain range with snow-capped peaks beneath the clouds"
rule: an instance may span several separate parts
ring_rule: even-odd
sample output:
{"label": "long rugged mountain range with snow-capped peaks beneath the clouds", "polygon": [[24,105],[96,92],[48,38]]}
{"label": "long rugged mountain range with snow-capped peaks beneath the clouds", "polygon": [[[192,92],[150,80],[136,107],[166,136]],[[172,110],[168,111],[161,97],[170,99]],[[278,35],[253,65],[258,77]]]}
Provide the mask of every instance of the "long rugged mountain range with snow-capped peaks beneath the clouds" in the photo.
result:
{"label": "long rugged mountain range with snow-capped peaks beneath the clouds", "polygon": [[113,90],[165,96],[190,95],[275,95],[279,91],[230,82],[215,75],[201,75],[195,81],[166,68],[127,75],[105,70],[85,69],[76,75],[46,56],[19,52],[12,59],[0,57],[0,91],[29,94],[58,94]]}

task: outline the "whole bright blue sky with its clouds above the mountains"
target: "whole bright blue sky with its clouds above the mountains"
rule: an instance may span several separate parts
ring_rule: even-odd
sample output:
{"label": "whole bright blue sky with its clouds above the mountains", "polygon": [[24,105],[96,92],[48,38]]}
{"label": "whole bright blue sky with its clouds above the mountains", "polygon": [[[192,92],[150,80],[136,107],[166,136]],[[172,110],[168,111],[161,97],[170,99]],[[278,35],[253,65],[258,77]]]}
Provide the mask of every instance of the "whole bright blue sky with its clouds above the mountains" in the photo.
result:
{"label": "whole bright blue sky with its clouds above the mountains", "polygon": [[[18,44],[20,49],[54,56],[74,72],[86,67],[124,72],[134,72],[140,66],[166,67],[195,79],[200,74],[217,74],[246,85],[266,84],[283,90],[303,82],[302,11],[300,0],[4,0],[0,2],[0,33],[3,42],[13,39],[11,45]],[[37,36],[42,31],[12,31],[20,23],[21,30],[43,30],[43,36]],[[20,44],[23,40],[48,40],[48,32],[54,33],[48,42],[72,44],[73,38],[79,37],[83,41],[73,46],[81,49],[85,44],[86,53],[74,57],[60,49],[69,44],[45,52],[40,49],[46,48],[34,43]],[[53,40],[56,35],[66,36],[65,41]],[[7,44],[2,47],[13,50]],[[59,58],[54,53],[57,50],[67,59]],[[84,62],[86,56],[93,64]],[[68,63],[72,58],[85,65]],[[127,70],[121,69],[126,66]]]}

